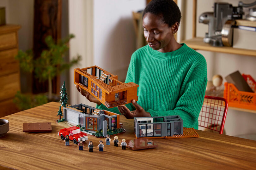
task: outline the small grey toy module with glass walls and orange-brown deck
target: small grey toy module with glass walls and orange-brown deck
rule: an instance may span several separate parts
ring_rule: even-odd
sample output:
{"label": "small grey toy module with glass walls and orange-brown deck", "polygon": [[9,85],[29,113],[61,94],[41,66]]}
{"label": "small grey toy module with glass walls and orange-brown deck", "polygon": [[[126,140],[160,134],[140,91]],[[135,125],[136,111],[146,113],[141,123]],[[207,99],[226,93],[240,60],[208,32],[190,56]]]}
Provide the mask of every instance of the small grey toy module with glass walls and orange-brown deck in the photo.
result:
{"label": "small grey toy module with glass walls and orange-brown deck", "polygon": [[194,138],[194,128],[183,127],[180,116],[134,117],[136,138]]}

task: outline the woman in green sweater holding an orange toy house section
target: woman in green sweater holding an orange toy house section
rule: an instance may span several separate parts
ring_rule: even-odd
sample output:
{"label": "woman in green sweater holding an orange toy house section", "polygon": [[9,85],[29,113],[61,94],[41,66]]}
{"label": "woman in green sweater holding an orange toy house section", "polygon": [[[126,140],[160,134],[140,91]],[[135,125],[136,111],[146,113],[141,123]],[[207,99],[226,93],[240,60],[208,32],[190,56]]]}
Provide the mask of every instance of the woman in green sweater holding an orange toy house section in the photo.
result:
{"label": "woman in green sweater holding an orange toy house section", "polygon": [[172,0],[152,0],[144,9],[148,45],[132,54],[125,80],[139,85],[138,102],[107,109],[77,86],[78,91],[97,103],[97,108],[120,112],[126,118],[180,115],[184,127],[198,129],[207,83],[206,61],[186,44],[176,42],[180,19],[180,9]]}

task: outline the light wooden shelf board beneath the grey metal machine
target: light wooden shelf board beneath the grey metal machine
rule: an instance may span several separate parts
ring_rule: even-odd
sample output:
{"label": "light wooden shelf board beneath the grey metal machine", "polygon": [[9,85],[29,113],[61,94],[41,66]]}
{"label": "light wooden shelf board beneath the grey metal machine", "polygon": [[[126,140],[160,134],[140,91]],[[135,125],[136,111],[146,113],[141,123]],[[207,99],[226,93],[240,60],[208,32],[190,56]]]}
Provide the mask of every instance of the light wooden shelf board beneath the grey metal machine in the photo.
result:
{"label": "light wooden shelf board beneath the grey metal machine", "polygon": [[184,40],[181,43],[185,43],[188,47],[195,50],[205,50],[218,53],[228,53],[228,54],[239,54],[239,55],[250,55],[256,57],[256,50],[239,49],[232,47],[213,47],[208,43],[204,43],[203,37],[195,37],[190,40]]}

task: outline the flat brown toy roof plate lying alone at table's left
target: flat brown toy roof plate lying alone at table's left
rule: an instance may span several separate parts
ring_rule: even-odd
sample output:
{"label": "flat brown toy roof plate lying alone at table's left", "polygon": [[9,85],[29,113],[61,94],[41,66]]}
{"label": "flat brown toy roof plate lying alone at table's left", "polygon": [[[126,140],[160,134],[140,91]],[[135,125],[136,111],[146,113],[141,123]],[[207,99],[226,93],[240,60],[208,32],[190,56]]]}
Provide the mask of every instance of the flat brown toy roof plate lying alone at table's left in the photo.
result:
{"label": "flat brown toy roof plate lying alone at table's left", "polygon": [[52,132],[52,123],[23,123],[23,132]]}

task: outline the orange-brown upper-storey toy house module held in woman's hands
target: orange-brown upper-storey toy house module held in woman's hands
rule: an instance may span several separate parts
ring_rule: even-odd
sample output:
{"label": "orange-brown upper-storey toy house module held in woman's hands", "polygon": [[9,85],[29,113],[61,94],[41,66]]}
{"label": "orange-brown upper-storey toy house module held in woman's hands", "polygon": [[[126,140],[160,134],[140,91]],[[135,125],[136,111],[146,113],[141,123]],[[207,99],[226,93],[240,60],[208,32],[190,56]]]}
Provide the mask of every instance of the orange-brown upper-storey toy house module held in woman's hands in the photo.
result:
{"label": "orange-brown upper-storey toy house module held in woman's hands", "polygon": [[74,83],[93,95],[107,108],[131,103],[133,99],[138,101],[139,85],[133,82],[120,82],[117,75],[96,65],[82,69],[76,68]]}

